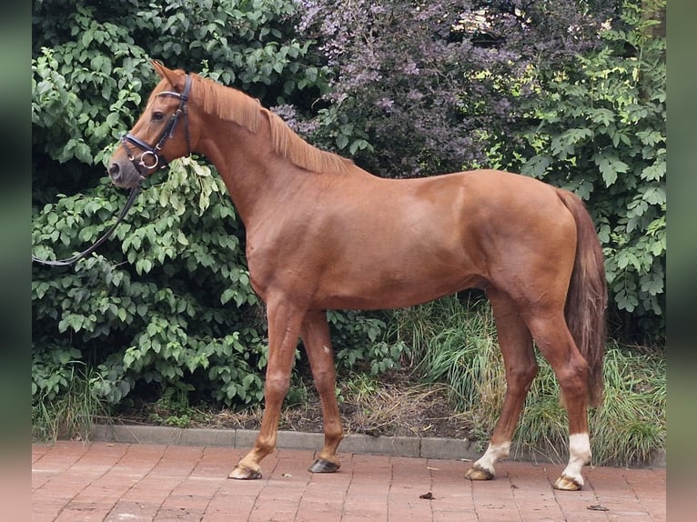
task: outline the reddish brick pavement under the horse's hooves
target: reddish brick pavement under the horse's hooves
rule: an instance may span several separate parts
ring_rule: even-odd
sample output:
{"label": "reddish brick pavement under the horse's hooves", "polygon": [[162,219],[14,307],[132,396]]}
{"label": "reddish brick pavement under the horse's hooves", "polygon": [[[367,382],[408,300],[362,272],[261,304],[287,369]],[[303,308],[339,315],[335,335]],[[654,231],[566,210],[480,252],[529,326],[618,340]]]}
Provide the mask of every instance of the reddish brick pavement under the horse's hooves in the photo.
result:
{"label": "reddish brick pavement under the horse's hooves", "polygon": [[[227,479],[244,449],[113,442],[32,446],[32,520],[205,522],[664,521],[665,468],[586,467],[581,492],[551,482],[561,466],[503,461],[489,482],[469,463],[339,453],[313,475],[313,453],[280,449],[256,481]],[[430,493],[432,498],[420,498]],[[606,510],[590,509],[601,507]]]}

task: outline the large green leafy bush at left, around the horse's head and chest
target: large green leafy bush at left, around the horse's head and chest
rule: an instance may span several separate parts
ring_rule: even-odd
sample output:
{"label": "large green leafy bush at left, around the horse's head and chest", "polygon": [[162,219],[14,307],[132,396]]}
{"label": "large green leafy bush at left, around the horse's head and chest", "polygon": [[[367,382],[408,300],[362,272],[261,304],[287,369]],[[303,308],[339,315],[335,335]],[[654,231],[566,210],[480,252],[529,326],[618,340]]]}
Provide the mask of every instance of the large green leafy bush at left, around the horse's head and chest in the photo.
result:
{"label": "large green leafy bush at left, around the horse's head and chest", "polygon": [[[305,60],[312,41],[298,39],[291,23],[296,7],[36,2],[33,254],[70,256],[123,206],[94,166],[104,172],[140,114],[156,80],[151,56],[237,82],[272,104],[321,90],[322,75]],[[200,160],[175,161],[166,179],[146,186],[96,256],[33,267],[34,404],[65,393],[76,364],[98,372],[92,393],[108,404],[135,389],[237,407],[262,399],[266,325],[249,284],[244,229]]]}

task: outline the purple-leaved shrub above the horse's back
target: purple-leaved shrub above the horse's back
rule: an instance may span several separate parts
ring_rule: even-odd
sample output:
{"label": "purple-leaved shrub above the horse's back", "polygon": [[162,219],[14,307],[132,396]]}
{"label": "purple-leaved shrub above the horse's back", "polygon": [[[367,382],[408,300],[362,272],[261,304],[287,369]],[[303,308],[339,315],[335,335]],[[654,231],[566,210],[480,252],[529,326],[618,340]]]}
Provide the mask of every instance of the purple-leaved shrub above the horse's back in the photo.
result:
{"label": "purple-leaved shrub above the horse's back", "polygon": [[490,166],[491,136],[512,139],[520,103],[535,96],[521,85],[531,71],[596,45],[608,15],[576,0],[302,4],[299,27],[317,36],[331,88],[298,128],[384,177]]}

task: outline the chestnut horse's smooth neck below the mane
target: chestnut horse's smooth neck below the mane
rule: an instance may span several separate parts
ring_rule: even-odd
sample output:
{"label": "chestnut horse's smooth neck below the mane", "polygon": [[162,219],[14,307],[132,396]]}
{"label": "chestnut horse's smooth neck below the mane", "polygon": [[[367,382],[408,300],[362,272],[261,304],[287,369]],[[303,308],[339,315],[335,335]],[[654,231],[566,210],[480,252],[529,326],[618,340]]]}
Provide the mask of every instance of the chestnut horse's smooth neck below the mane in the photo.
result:
{"label": "chestnut horse's smooth neck below the mane", "polygon": [[201,128],[197,152],[216,166],[246,226],[301,181],[298,168],[272,150],[266,117],[254,133],[212,115]]}

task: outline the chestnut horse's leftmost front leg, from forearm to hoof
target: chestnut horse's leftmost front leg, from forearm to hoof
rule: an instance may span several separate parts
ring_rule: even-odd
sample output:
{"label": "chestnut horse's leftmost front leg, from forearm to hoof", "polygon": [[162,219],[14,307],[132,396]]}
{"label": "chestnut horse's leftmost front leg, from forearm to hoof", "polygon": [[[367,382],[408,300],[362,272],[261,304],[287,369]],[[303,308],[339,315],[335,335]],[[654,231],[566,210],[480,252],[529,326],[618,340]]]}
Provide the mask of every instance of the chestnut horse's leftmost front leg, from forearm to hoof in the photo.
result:
{"label": "chestnut horse's leftmost front leg, from forearm to hoof", "polygon": [[288,302],[269,303],[268,315],[268,363],[264,383],[264,415],[254,447],[242,457],[229,478],[251,480],[261,478],[259,463],[276,447],[278,419],[283,399],[290,386],[290,372],[295,361],[300,324],[304,311]]}

